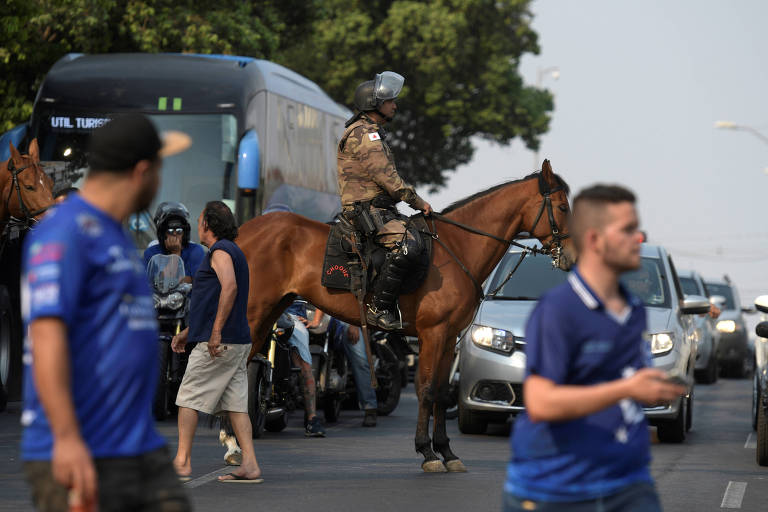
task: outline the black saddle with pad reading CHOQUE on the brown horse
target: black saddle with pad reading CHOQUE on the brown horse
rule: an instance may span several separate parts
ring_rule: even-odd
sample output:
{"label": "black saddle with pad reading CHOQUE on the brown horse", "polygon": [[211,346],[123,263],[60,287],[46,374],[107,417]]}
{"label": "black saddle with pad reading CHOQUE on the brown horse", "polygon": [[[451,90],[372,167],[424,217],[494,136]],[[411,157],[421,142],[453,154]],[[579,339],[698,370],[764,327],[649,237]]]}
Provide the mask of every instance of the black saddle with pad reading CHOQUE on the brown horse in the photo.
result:
{"label": "black saddle with pad reading CHOQUE on the brown horse", "polygon": [[[376,244],[372,236],[364,236],[340,213],[329,225],[331,231],[325,246],[321,284],[326,288],[354,293],[363,289],[362,279],[365,279],[364,289],[372,289],[371,285],[384,264],[386,249]],[[418,213],[409,217],[405,227],[421,235],[424,250],[413,273],[403,281],[400,291],[403,295],[413,293],[421,286],[432,261],[432,232],[424,215]],[[368,270],[367,275],[363,275],[363,268]]]}

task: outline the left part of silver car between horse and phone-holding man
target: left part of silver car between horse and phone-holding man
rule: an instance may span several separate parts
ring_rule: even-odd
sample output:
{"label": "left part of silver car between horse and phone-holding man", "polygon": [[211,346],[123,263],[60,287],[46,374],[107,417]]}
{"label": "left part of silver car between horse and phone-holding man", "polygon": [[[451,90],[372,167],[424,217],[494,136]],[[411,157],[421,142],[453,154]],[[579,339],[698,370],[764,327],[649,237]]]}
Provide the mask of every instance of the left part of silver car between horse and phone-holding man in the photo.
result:
{"label": "left part of silver car between horse and phone-holding man", "polygon": [[[535,240],[521,241],[539,246]],[[523,249],[512,247],[486,281],[498,288]],[[525,323],[539,297],[568,274],[543,256],[528,254],[493,297],[486,297],[459,341],[458,416],[464,434],[482,434],[489,422],[505,422],[523,407]]]}

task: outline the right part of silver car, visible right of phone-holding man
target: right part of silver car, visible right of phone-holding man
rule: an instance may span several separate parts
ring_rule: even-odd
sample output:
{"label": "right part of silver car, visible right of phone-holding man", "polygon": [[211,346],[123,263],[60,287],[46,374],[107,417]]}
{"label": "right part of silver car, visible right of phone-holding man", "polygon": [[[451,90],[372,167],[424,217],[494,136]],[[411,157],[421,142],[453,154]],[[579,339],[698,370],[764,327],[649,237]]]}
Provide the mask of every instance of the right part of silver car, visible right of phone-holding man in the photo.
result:
{"label": "right part of silver car, visible right of phone-holding man", "polygon": [[657,427],[659,441],[679,443],[693,424],[696,342],[694,317],[709,311],[709,301],[683,294],[667,251],[643,244],[639,269],[627,272],[621,281],[643,301],[648,313],[648,337],[653,366],[685,378],[689,391],[669,405],[646,407],[645,415]]}

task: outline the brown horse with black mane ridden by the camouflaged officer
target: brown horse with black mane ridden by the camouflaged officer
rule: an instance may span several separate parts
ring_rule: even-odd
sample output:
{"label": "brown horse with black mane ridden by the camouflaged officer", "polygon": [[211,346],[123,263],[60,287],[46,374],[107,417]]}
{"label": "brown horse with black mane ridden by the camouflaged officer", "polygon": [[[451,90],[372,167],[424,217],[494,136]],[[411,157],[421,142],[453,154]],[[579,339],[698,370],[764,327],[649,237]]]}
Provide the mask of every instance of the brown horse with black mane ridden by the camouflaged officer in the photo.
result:
{"label": "brown horse with black mane ridden by the camouflaged officer", "polygon": [[[456,338],[472,320],[478,305],[476,283],[488,277],[509,246],[509,242],[500,242],[498,238],[509,241],[527,231],[542,242],[553,258],[557,257],[561,268],[570,267],[569,240],[562,247],[566,254],[561,254],[560,241],[567,235],[559,231],[565,228],[569,212],[568,187],[552,172],[549,161],[544,161],[542,169],[447,208],[443,212],[445,220],[434,222],[434,236],[439,236],[461,264],[441,244],[434,244],[425,281],[414,293],[400,297],[403,320],[409,324],[405,333],[419,338],[416,451],[424,456],[424,471],[466,471],[451,451],[445,430],[448,374]],[[446,220],[482,228],[491,236],[472,233]],[[251,356],[261,349],[273,322],[296,295],[332,316],[360,325],[355,297],[320,284],[328,231],[326,224],[284,212],[258,217],[240,228],[237,243],[245,252],[251,275]],[[474,279],[462,270],[462,264]],[[432,414],[430,446],[428,428]],[[433,447],[442,455],[445,465]]]}

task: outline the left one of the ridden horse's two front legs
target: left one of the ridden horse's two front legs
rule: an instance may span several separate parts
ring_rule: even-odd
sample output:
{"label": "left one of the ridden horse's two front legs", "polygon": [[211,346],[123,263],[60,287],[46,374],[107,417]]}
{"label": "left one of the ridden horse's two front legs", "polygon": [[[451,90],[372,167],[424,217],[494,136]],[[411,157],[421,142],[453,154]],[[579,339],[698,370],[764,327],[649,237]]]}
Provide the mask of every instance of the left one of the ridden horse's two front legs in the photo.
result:
{"label": "left one of the ridden horse's two front legs", "polygon": [[444,473],[446,471],[443,462],[438,458],[429,439],[429,417],[435,403],[433,387],[433,375],[435,369],[435,344],[422,340],[421,353],[419,354],[419,374],[417,397],[419,399],[419,417],[416,421],[416,451],[424,456],[421,468],[427,473]]}

